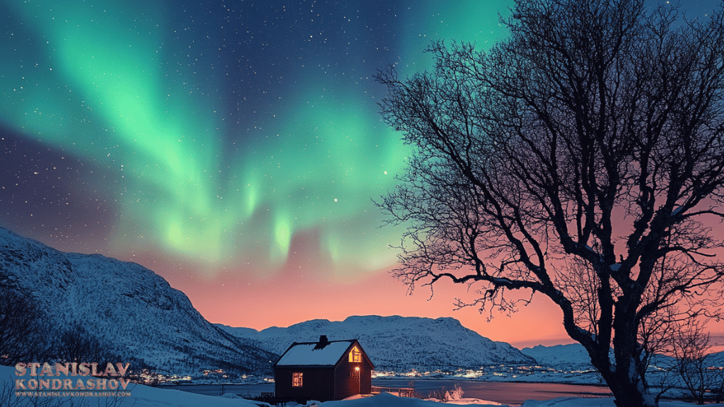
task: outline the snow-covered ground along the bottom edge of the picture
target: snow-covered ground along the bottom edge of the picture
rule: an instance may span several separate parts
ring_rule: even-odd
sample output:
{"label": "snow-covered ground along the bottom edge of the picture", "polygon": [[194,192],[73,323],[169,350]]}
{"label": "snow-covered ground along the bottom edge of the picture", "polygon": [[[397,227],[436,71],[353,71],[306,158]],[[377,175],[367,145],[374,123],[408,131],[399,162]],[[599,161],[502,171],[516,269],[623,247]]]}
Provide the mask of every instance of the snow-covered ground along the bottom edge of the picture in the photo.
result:
{"label": "snow-covered ground along the bottom edge of the picture", "polygon": [[[125,396],[119,396],[118,392],[106,391],[98,394],[98,391],[88,390],[84,392],[69,392],[63,390],[43,390],[40,395],[37,392],[16,393],[15,371],[9,366],[0,366],[0,406],[26,407],[26,406],[98,406],[98,407],[256,407],[269,406],[266,403],[259,403],[245,400],[235,395],[226,394],[223,396],[199,395],[181,390],[167,390],[144,385],[128,385],[123,391]],[[20,390],[22,391],[22,390]],[[30,395],[35,393],[35,395]],[[420,400],[418,398],[400,398],[389,393],[382,393],[371,397],[356,397],[341,401],[328,401],[326,403],[308,403],[307,406],[319,407],[435,407],[443,403],[434,400]],[[463,398],[454,400],[449,404],[468,406],[504,406],[492,401]],[[288,407],[294,407],[295,403],[287,403]],[[613,398],[554,398],[552,400],[528,400],[523,407],[614,407]],[[691,407],[689,403],[662,402],[661,407]],[[724,407],[724,404],[710,404],[708,406]]]}

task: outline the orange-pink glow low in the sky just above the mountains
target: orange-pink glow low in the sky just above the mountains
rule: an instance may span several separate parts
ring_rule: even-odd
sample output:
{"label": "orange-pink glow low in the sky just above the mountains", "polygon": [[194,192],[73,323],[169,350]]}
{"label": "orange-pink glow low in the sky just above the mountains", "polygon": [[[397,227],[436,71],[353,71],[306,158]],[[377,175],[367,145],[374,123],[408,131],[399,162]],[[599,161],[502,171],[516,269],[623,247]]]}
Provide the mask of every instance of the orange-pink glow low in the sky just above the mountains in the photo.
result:
{"label": "orange-pink glow low in the sky just above the mountains", "polygon": [[157,274],[185,293],[214,324],[261,331],[313,319],[342,321],[349,316],[451,317],[483,337],[518,348],[573,342],[563,330],[560,310],[542,295],[535,295],[529,306],[519,307],[510,316],[494,311],[488,321],[489,311],[481,314],[472,306],[455,310],[456,298],[475,298],[474,289],[468,293],[467,285],[440,281],[432,293],[429,287],[418,287],[408,295],[408,287],[388,272],[392,267],[367,272],[356,280],[338,279],[327,272],[294,274],[288,269],[250,279],[232,271],[214,278],[188,278],[188,270],[174,272],[175,267],[161,261],[153,264]]}

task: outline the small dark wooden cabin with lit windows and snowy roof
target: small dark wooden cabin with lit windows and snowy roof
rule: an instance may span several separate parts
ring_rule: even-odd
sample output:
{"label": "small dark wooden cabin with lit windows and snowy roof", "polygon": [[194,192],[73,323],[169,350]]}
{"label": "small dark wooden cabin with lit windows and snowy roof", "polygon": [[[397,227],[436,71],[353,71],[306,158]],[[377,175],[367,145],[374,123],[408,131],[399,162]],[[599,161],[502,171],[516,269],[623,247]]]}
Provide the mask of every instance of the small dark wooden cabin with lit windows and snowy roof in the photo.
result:
{"label": "small dark wooden cabin with lit windows and snowy roof", "polygon": [[358,340],[292,343],[274,364],[274,397],[298,400],[342,400],[370,394],[374,365]]}

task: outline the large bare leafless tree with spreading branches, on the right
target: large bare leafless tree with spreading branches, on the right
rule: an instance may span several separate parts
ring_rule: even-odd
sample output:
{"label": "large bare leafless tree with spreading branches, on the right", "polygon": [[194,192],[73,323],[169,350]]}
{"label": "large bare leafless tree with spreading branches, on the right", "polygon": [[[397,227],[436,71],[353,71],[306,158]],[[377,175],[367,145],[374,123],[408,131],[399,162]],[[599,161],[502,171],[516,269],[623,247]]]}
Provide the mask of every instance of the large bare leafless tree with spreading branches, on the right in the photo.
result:
{"label": "large bare leafless tree with spreading branches, on the right", "polygon": [[503,22],[487,52],[434,43],[434,71],[377,76],[415,148],[378,202],[408,225],[395,274],[476,285],[481,310],[546,295],[617,405],[655,405],[653,317],[711,316],[722,298],[707,226],[724,215],[722,13],[516,0]]}

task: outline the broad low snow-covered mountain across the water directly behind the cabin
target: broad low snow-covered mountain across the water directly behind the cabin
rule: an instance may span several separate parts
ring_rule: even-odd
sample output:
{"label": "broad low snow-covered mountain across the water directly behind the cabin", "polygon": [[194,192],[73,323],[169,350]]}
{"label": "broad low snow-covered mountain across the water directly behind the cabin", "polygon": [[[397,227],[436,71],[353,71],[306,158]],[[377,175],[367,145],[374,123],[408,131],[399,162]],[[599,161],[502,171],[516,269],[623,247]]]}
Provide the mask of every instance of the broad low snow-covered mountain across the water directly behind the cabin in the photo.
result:
{"label": "broad low snow-covered mountain across the water directly behind the cabin", "polygon": [[273,353],[293,342],[358,339],[375,370],[395,372],[479,369],[499,364],[531,364],[534,360],[508,343],[493,342],[453,318],[350,316],[342,322],[314,319],[288,328],[256,331],[219,325],[238,337],[256,340]]}

